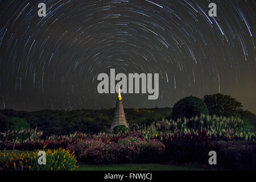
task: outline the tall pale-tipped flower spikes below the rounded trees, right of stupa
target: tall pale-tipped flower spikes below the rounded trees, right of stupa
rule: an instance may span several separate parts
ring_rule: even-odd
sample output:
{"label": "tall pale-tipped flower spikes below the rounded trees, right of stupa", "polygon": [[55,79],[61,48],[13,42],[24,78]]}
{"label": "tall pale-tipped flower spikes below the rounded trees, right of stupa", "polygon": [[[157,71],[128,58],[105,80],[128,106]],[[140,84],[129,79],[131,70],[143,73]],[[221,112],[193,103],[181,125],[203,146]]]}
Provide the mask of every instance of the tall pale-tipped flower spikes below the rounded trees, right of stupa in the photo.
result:
{"label": "tall pale-tipped flower spikes below the rounded trees, right of stupa", "polygon": [[208,137],[222,140],[256,140],[256,134],[243,128],[243,121],[236,117],[218,117],[201,115],[200,117],[182,118],[177,120],[163,119],[151,125],[129,125],[130,131],[144,139],[161,139],[167,135],[199,134],[206,131]]}

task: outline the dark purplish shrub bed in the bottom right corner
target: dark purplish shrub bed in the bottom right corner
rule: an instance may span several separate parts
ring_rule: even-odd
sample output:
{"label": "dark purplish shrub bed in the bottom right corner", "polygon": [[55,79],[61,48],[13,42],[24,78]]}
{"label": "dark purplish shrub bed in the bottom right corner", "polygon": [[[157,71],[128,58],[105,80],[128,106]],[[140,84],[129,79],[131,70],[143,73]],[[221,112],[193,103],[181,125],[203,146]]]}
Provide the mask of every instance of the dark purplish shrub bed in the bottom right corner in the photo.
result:
{"label": "dark purplish shrub bed in the bottom right corner", "polygon": [[[174,163],[197,162],[208,164],[209,151],[217,153],[217,168],[232,170],[256,169],[256,143],[248,141],[210,141],[203,137],[200,141],[169,138],[166,144],[166,159]],[[207,139],[208,138],[208,139]]]}

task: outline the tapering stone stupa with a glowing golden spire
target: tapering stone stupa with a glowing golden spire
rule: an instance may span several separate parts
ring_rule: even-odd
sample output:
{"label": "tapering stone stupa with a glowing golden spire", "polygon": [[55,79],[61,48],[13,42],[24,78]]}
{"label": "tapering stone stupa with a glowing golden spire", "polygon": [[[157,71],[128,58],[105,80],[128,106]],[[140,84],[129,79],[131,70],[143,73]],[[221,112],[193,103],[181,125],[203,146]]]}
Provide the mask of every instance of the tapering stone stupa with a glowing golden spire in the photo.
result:
{"label": "tapering stone stupa with a glowing golden spire", "polygon": [[118,125],[125,125],[126,127],[128,127],[126,118],[125,118],[125,111],[123,111],[123,103],[122,103],[122,97],[120,94],[120,86],[118,90],[117,104],[115,104],[114,120],[110,127],[110,130],[113,131],[114,127]]}

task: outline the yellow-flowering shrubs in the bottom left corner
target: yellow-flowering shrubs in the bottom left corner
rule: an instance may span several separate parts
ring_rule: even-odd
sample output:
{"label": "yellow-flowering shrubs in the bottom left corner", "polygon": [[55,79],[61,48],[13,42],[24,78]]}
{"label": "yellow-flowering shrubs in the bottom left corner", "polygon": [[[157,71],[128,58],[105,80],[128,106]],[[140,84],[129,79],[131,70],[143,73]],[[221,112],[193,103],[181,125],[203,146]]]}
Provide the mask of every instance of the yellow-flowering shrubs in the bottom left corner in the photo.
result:
{"label": "yellow-flowering shrubs in the bottom left corner", "polygon": [[69,151],[46,151],[46,165],[38,164],[38,151],[0,151],[0,171],[68,171],[78,168],[76,158]]}

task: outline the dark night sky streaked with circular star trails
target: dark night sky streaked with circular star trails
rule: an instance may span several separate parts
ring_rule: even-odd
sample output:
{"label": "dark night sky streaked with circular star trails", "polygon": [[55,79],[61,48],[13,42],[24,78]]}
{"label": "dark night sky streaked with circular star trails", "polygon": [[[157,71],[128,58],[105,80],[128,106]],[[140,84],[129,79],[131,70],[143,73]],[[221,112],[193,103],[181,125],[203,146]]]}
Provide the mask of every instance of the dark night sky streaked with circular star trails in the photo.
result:
{"label": "dark night sky streaked with circular star trails", "polygon": [[[46,17],[38,16],[41,2]],[[208,16],[210,2],[217,17]],[[255,5],[0,0],[0,109],[114,107],[117,94],[98,94],[97,75],[115,68],[159,73],[158,100],[122,94],[126,108],[173,107],[220,92],[256,113]]]}

